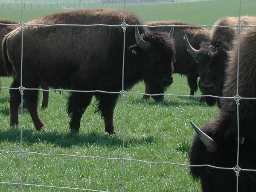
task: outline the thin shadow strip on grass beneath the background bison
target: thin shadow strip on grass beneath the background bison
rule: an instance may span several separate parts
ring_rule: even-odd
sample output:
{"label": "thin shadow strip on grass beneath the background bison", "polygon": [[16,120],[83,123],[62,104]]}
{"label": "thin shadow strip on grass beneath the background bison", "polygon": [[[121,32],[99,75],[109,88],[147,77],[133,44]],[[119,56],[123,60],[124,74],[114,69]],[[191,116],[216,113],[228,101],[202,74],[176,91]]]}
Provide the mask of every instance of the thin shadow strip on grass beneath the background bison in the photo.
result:
{"label": "thin shadow strip on grass beneath the background bison", "polygon": [[[178,97],[180,99],[184,99],[184,97]],[[171,100],[168,101],[167,99],[164,99],[161,102],[155,102],[154,99],[142,99],[142,98],[137,98],[137,99],[131,99],[130,101],[132,104],[140,104],[140,103],[146,103],[148,105],[161,105],[164,107],[169,107],[169,106],[180,106],[180,105],[186,105],[186,106],[207,106],[205,102],[199,102],[199,98],[196,97],[189,97],[181,102],[178,102],[176,100]]]}

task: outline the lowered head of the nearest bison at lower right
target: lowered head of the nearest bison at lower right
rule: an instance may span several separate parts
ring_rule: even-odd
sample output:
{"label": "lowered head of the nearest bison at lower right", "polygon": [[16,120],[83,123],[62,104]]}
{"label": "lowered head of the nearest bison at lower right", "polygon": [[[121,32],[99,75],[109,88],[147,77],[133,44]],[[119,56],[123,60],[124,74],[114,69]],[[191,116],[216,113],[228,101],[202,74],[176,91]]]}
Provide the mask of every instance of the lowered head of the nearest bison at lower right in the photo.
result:
{"label": "lowered head of the nearest bison at lower right", "polygon": [[[189,151],[192,177],[201,181],[203,192],[236,191],[237,177],[232,169],[237,163],[236,125],[219,119],[204,125],[202,129],[192,122],[191,125],[196,132]],[[239,167],[255,169],[255,145],[248,145],[246,142],[249,143],[246,138],[240,137]],[[240,171],[239,174],[239,191],[255,191],[256,173]]]}

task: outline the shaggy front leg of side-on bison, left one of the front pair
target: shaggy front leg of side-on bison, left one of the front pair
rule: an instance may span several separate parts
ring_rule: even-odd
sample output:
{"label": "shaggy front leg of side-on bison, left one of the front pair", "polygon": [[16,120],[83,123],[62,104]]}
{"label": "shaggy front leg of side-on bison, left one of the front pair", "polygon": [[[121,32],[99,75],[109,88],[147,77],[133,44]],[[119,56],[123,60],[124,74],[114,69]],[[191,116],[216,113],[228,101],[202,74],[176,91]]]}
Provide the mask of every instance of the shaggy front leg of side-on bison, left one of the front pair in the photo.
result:
{"label": "shaggy front leg of side-on bison, left one of the front pair", "polygon": [[92,97],[93,95],[91,93],[71,93],[67,103],[67,113],[70,116],[71,132],[79,132],[81,117],[88,105],[90,105]]}

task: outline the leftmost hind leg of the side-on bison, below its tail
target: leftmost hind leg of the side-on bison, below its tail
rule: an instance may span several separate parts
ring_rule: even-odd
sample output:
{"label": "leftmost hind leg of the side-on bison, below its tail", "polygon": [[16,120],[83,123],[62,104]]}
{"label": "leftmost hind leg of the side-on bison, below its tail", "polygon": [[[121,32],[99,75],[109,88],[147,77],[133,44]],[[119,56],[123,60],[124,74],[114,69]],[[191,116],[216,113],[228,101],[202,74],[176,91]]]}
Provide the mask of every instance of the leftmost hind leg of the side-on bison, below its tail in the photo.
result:
{"label": "leftmost hind leg of the side-on bison, below its tail", "polygon": [[[20,86],[20,81],[17,78],[13,79],[10,88],[17,88]],[[20,91],[17,89],[10,89],[10,126],[19,125],[19,107],[21,102]]]}

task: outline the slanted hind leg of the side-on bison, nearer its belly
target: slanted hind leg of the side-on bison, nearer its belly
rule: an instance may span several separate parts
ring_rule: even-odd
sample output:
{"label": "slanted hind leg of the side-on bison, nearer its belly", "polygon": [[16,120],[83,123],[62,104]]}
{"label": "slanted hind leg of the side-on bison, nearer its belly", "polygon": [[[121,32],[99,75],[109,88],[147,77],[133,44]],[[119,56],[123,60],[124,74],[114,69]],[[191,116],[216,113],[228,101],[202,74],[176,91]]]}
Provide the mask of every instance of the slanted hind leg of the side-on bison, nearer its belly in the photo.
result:
{"label": "slanted hind leg of the side-on bison, nearer its belly", "polygon": [[24,100],[26,108],[29,110],[30,116],[35,125],[35,129],[38,131],[47,131],[44,127],[44,123],[38,115],[38,90],[24,90]]}

